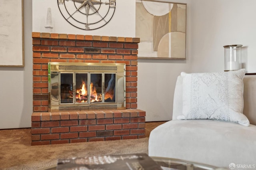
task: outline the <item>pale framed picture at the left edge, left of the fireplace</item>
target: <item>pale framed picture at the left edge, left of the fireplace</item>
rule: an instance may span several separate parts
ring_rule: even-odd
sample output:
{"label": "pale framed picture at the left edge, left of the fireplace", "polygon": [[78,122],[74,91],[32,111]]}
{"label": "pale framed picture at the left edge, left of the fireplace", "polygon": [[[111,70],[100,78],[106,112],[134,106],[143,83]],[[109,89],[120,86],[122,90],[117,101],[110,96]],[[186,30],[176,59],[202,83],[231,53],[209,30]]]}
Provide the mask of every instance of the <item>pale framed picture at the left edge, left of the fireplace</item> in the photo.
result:
{"label": "pale framed picture at the left edge, left of the fireplace", "polygon": [[23,0],[1,0],[0,66],[24,67]]}

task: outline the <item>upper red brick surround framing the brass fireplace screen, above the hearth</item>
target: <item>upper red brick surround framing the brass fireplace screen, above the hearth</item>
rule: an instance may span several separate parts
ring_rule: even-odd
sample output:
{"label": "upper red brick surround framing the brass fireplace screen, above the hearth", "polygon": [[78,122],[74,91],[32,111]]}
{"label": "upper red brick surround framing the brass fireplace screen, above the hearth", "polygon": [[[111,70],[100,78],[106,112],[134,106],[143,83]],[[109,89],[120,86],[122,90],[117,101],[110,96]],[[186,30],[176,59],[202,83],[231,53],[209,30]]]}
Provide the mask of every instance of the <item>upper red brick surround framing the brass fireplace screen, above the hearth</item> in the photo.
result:
{"label": "upper red brick surround framing the brass fireplace screen, above the hearth", "polygon": [[126,109],[137,108],[139,38],[33,32],[33,112],[48,111],[48,62],[126,63]]}

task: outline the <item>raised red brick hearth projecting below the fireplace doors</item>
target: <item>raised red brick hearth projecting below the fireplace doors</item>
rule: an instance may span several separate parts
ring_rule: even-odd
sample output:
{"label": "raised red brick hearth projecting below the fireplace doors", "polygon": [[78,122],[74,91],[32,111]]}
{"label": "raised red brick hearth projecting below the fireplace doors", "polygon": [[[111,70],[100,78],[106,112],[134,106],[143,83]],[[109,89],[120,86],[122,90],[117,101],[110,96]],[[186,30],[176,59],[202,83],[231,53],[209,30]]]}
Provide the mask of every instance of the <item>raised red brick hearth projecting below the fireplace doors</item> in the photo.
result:
{"label": "raised red brick hearth projecting below the fireplace doors", "polygon": [[31,144],[144,138],[145,116],[139,109],[33,113]]}

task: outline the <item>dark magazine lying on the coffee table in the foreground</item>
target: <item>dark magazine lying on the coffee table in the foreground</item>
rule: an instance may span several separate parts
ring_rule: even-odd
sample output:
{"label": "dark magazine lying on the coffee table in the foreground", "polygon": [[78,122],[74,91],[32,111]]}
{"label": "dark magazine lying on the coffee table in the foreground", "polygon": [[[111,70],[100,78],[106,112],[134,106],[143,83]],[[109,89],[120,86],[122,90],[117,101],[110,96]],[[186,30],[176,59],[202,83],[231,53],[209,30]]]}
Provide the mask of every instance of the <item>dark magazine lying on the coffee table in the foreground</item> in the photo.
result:
{"label": "dark magazine lying on the coffee table in the foreground", "polygon": [[162,170],[145,153],[58,159],[57,170]]}

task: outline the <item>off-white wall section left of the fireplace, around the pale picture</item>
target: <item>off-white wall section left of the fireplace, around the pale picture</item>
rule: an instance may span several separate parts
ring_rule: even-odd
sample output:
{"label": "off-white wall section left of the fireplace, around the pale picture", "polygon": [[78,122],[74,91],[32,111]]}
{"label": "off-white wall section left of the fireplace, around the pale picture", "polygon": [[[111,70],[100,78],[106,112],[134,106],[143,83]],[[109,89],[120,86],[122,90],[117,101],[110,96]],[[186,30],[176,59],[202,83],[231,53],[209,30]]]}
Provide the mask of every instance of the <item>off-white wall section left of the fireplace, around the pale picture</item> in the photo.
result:
{"label": "off-white wall section left of the fireplace, around the pale picture", "polygon": [[[24,67],[0,67],[0,129],[31,127],[32,0],[24,0]],[[14,49],[15,50],[15,49]]]}

